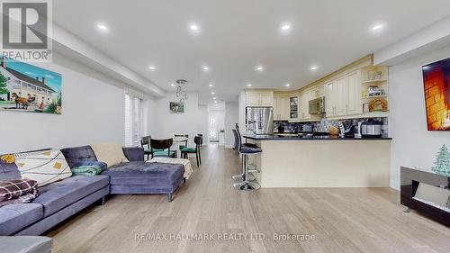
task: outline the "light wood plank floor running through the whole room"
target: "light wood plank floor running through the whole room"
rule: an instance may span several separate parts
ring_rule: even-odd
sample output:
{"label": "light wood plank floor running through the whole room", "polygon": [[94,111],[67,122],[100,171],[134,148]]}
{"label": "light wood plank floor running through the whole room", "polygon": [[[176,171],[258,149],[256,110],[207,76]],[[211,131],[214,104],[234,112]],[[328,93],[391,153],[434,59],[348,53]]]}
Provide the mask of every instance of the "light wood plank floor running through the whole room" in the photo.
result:
{"label": "light wood plank floor running through the whole room", "polygon": [[[193,159],[192,159],[192,162]],[[202,166],[172,203],[166,195],[116,195],[49,232],[54,252],[449,252],[450,229],[402,212],[390,188],[263,188],[238,192],[231,149],[203,146]],[[137,235],[158,238],[136,239]],[[166,233],[166,240],[162,238]],[[171,239],[169,234],[183,236]],[[210,233],[215,239],[186,240]],[[247,239],[225,240],[225,233]],[[258,234],[259,233],[259,234]],[[274,240],[273,235],[311,235]],[[250,238],[265,235],[265,239]],[[222,240],[218,238],[222,236]]]}

